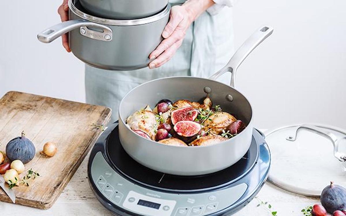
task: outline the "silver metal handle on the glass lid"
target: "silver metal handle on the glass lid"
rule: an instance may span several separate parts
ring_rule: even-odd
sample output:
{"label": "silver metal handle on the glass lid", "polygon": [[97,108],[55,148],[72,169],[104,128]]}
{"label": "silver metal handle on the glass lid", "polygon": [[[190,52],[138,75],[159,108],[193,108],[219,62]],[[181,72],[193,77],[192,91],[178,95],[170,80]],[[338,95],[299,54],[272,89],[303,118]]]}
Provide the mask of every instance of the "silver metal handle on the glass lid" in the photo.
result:
{"label": "silver metal handle on the glass lid", "polygon": [[338,151],[338,149],[339,149],[338,137],[334,133],[331,133],[331,132],[329,132],[327,130],[319,128],[319,127],[317,127],[315,125],[303,124],[303,125],[298,126],[295,129],[295,133],[293,135],[291,135],[291,136],[288,136],[286,138],[286,140],[295,141],[297,139],[298,130],[300,130],[302,128],[309,129],[309,130],[311,130],[313,132],[316,132],[317,134],[319,134],[319,135],[321,135],[323,137],[328,138],[333,143],[333,146],[334,146],[334,157],[336,157],[341,162],[345,162],[346,161],[345,153],[342,153],[342,152]]}

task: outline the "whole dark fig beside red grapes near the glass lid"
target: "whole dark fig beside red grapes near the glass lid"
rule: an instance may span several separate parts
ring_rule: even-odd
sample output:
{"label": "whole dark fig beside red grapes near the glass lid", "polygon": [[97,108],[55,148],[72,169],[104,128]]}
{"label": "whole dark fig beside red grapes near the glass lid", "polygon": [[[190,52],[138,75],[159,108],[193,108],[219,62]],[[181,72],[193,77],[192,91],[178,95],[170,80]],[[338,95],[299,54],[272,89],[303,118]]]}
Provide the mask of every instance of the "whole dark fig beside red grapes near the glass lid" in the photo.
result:
{"label": "whole dark fig beside red grapes near the glass lid", "polygon": [[330,185],[322,190],[321,204],[330,214],[336,210],[346,210],[346,189],[342,186],[334,185],[333,181],[331,181]]}

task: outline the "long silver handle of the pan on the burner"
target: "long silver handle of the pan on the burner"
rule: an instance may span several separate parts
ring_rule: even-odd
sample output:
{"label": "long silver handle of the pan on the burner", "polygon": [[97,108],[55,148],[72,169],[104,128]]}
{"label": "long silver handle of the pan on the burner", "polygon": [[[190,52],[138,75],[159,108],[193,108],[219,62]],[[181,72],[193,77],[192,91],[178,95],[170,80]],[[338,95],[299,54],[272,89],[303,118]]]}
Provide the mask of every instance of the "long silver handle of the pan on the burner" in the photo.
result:
{"label": "long silver handle of the pan on the burner", "polygon": [[238,50],[231,57],[229,62],[225,67],[221,68],[220,71],[213,74],[209,79],[217,79],[219,76],[226,72],[232,73],[231,76],[231,87],[235,87],[235,75],[240,64],[244,59],[254,50],[259,44],[262,43],[267,37],[273,33],[273,28],[269,26],[264,26],[257,29],[243,44],[238,48]]}

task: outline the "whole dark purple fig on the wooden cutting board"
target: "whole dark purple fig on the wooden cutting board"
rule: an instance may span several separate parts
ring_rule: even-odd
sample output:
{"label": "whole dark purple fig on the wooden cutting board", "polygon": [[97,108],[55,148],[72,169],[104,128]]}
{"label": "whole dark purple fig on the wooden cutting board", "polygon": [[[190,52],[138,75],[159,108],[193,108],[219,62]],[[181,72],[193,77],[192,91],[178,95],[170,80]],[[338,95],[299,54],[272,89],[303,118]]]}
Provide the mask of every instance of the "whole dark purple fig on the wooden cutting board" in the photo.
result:
{"label": "whole dark purple fig on the wooden cutting board", "polygon": [[21,160],[27,163],[34,158],[35,152],[35,145],[25,137],[24,131],[21,137],[12,139],[6,145],[6,154],[11,161]]}

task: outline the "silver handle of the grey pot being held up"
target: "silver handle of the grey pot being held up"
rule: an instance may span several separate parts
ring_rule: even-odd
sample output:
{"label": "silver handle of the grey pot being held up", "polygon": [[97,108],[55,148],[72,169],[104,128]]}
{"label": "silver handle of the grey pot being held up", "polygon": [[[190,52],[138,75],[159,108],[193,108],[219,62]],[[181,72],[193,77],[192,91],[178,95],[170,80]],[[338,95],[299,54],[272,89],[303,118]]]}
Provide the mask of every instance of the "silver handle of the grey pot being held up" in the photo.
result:
{"label": "silver handle of the grey pot being held up", "polygon": [[[86,27],[100,28],[103,30],[103,32],[98,32],[98,34],[96,35],[94,33],[96,31],[90,30]],[[69,21],[61,22],[55,26],[47,28],[46,30],[38,33],[37,38],[42,43],[51,43],[56,38],[76,28],[80,28],[81,34],[86,37],[90,37],[90,38],[94,38],[98,40],[105,40],[105,41],[112,40],[113,32],[111,28],[95,23],[95,22],[89,22],[86,20],[69,20]],[[88,30],[92,31],[93,34],[90,34],[90,36],[86,35]]]}

